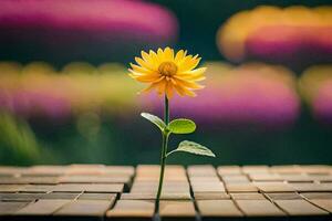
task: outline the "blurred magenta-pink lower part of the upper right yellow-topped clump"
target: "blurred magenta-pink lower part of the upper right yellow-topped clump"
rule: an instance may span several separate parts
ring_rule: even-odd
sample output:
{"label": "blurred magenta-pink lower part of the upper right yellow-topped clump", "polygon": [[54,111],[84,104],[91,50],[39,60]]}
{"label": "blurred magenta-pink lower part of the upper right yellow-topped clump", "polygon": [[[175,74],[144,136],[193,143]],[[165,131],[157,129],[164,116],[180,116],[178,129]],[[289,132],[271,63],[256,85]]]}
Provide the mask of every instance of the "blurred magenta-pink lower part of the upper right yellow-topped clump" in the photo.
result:
{"label": "blurred magenta-pink lower part of the upper right yellow-topped clump", "polygon": [[264,27],[248,36],[246,49],[251,59],[292,67],[303,69],[320,62],[331,62],[332,28]]}

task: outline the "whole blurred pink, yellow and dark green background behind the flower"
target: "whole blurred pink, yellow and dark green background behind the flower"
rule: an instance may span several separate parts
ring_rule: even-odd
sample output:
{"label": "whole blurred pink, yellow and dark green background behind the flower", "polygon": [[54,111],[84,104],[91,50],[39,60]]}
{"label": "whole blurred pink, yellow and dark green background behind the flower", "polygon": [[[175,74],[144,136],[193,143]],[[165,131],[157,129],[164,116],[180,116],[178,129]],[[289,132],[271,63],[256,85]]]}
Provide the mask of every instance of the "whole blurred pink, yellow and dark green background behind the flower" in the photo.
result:
{"label": "whole blurred pink, yellow and dark green background behind the flower", "polygon": [[1,0],[0,164],[158,164],[160,135],[127,76],[141,50],[172,46],[208,67],[172,117],[217,158],[170,164],[331,164],[329,0]]}

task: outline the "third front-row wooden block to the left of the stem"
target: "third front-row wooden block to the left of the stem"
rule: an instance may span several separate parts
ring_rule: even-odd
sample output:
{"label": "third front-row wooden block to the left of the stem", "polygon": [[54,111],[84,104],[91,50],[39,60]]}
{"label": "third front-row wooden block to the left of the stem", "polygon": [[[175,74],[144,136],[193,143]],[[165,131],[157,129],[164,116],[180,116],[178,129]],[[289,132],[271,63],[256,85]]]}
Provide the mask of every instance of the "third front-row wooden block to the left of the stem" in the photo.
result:
{"label": "third front-row wooden block to the left of the stem", "polygon": [[50,215],[71,200],[38,200],[17,211],[17,215]]}

